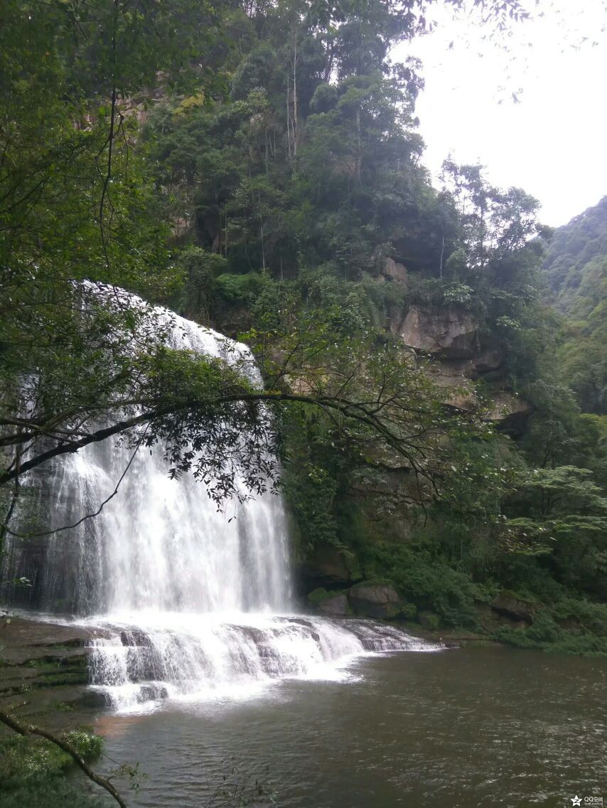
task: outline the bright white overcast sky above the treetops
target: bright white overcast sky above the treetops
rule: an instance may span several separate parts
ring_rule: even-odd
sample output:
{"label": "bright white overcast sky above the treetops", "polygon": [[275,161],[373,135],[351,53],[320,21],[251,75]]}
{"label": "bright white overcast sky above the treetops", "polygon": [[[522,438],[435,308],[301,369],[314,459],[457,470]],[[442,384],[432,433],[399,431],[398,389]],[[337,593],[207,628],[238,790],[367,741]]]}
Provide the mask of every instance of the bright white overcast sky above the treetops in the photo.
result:
{"label": "bright white overcast sky above the treetops", "polygon": [[417,114],[433,174],[449,153],[482,162],[491,183],[524,188],[558,226],[607,195],[607,0],[533,7],[509,37],[437,7],[435,31],[393,58],[422,60]]}

